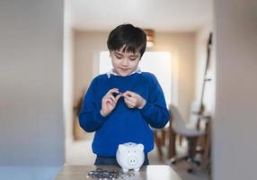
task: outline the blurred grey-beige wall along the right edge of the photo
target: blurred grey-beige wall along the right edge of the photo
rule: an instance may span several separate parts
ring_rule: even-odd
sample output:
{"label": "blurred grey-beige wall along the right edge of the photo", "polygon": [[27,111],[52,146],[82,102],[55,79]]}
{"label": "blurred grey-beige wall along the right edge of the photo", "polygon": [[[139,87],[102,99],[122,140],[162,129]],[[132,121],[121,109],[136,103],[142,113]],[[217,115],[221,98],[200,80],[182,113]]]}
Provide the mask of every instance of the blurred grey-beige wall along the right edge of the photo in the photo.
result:
{"label": "blurred grey-beige wall along the right edge of the photo", "polygon": [[217,0],[213,179],[256,179],[257,2]]}

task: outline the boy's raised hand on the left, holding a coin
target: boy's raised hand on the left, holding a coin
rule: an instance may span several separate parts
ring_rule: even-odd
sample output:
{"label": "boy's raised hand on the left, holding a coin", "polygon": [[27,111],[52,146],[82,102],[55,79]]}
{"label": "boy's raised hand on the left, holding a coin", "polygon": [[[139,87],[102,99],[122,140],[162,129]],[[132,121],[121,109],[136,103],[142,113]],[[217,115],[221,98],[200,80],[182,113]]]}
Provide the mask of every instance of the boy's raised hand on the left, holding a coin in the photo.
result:
{"label": "boy's raised hand on the left, holding a coin", "polygon": [[[114,97],[113,94],[118,94],[118,95]],[[116,107],[116,103],[118,102],[120,97],[121,97],[121,94],[119,92],[119,89],[117,88],[110,89],[107,92],[107,94],[105,94],[102,97],[102,109],[100,111],[102,116],[107,116],[109,113],[112,112],[112,110]]]}

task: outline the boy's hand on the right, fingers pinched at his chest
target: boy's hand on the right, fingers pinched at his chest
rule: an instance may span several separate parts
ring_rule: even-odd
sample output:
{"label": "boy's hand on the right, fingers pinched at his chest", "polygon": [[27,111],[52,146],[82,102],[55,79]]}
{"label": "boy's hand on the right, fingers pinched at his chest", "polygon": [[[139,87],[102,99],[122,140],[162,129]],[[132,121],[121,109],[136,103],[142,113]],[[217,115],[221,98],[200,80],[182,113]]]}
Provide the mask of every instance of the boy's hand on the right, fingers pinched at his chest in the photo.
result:
{"label": "boy's hand on the right, fingers pinched at his chest", "polygon": [[122,94],[122,96],[124,97],[124,102],[128,105],[129,108],[142,109],[146,105],[146,100],[139,94],[126,91]]}

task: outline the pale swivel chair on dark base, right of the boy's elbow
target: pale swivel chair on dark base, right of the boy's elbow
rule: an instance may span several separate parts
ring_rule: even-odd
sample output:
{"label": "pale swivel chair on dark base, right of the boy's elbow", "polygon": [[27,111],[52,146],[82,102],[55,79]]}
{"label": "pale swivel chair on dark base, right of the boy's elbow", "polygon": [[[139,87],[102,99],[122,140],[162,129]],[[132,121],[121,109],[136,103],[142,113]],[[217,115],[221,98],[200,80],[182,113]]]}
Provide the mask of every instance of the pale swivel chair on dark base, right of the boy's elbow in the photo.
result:
{"label": "pale swivel chair on dark base, right of the boy's elbow", "polygon": [[[177,135],[181,135],[188,140],[188,154],[185,157],[174,157],[171,160],[171,163],[174,164],[180,160],[188,160],[192,165],[199,165],[199,161],[195,160],[196,155],[196,143],[199,137],[205,135],[205,130],[197,130],[188,126],[188,124],[183,121],[182,115],[174,105],[171,105],[171,116],[172,116],[172,129]],[[192,168],[188,169],[188,172],[191,173]]]}

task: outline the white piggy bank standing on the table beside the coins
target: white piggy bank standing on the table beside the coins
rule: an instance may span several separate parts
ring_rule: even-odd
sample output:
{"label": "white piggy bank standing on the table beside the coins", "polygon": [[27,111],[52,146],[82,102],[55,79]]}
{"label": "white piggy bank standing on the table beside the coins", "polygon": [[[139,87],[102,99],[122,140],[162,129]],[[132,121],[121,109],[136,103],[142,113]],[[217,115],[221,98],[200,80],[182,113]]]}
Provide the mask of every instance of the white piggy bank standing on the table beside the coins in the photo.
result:
{"label": "white piggy bank standing on the table beside the coins", "polygon": [[145,161],[144,145],[128,142],[120,144],[116,152],[116,160],[123,172],[129,169],[139,171]]}

